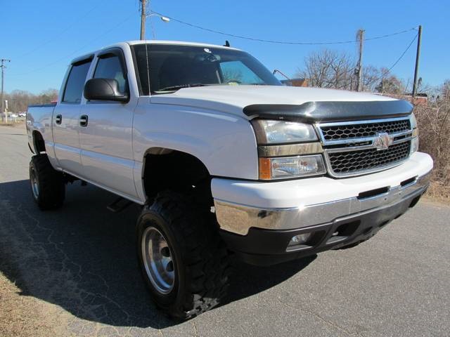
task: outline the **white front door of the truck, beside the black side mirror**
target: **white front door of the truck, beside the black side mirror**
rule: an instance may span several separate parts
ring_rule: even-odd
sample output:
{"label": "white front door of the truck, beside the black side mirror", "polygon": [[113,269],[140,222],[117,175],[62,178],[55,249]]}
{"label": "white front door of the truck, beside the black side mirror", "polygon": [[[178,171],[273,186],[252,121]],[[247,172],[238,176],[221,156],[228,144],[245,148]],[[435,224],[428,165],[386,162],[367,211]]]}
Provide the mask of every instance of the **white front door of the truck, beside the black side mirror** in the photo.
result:
{"label": "white front door of the truck, beside the black side mirror", "polygon": [[[129,93],[124,54],[120,48],[96,56],[93,78],[116,79],[120,91]],[[82,105],[79,140],[84,175],[93,183],[136,199],[132,148],[133,112],[137,95],[127,103],[91,100]]]}

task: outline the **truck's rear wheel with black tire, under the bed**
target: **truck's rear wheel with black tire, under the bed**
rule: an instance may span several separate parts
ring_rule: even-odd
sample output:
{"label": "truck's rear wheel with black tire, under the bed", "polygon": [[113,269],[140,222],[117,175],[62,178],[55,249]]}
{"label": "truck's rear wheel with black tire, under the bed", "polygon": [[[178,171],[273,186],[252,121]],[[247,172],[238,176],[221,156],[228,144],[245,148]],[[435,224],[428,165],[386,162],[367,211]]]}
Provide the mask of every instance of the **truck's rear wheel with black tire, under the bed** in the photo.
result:
{"label": "truck's rear wheel with black tire, under the bed", "polygon": [[40,209],[57,209],[63,205],[63,173],[53,169],[46,154],[37,154],[30,161],[30,187],[32,197]]}

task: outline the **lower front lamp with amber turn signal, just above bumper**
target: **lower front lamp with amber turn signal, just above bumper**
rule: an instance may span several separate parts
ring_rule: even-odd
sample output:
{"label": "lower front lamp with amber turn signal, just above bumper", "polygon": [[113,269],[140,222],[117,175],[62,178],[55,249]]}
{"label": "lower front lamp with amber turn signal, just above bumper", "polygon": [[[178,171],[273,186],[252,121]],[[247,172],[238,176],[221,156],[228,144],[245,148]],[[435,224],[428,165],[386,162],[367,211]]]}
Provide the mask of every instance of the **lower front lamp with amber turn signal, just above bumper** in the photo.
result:
{"label": "lower front lamp with amber turn signal, just above bumper", "polygon": [[259,179],[283,179],[326,173],[321,154],[283,158],[259,158]]}

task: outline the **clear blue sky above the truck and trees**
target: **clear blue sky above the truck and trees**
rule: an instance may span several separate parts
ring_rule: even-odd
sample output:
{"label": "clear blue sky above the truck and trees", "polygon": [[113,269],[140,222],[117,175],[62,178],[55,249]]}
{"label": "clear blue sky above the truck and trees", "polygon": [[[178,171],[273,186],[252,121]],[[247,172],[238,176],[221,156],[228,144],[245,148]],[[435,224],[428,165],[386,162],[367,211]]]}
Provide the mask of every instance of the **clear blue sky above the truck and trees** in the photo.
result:
{"label": "clear blue sky above the truck and trees", "polygon": [[[420,77],[430,85],[450,78],[450,1],[171,1],[153,0],[151,9],[195,25],[230,34],[283,41],[348,41],[356,30],[375,37],[423,25]],[[1,0],[0,58],[11,59],[5,90],[39,93],[59,88],[72,58],[118,41],[139,39],[139,0]],[[224,37],[153,18],[158,39],[232,46],[255,55],[270,70],[293,76],[304,57],[324,46],[292,46]],[[390,67],[415,31],[366,41],[364,64]],[[150,22],[147,38],[152,37]],[[356,56],[354,44],[326,46]],[[416,45],[392,72],[412,79]]]}

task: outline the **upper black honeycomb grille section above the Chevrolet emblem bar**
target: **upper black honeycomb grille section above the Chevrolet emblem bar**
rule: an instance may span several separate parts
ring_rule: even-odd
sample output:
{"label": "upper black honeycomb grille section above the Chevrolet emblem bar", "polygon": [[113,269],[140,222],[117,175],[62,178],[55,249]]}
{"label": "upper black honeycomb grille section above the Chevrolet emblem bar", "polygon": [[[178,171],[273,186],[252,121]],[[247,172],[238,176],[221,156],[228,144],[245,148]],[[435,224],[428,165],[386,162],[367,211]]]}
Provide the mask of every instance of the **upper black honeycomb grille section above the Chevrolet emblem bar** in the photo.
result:
{"label": "upper black honeycomb grille section above the Chevrolet emblem bar", "polygon": [[380,121],[364,124],[341,124],[321,127],[323,139],[326,141],[345,140],[351,138],[366,138],[373,137],[377,133],[381,132],[398,133],[409,130],[411,130],[409,119]]}

